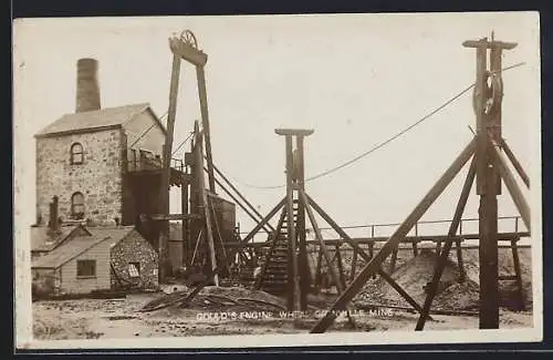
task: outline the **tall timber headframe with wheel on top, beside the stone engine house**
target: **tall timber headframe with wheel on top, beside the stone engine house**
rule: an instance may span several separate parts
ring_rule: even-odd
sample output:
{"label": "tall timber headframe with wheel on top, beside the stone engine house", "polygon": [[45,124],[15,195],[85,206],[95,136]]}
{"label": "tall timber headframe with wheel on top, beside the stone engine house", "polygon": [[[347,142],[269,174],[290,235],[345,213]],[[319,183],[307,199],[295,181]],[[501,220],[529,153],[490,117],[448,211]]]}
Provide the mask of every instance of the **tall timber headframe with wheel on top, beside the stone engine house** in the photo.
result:
{"label": "tall timber headframe with wheel on top, beside the stone engine house", "polygon": [[[173,53],[173,69],[169,89],[169,107],[167,112],[167,132],[164,144],[164,157],[160,182],[160,204],[161,214],[150,215],[155,222],[161,222],[161,233],[159,238],[159,279],[164,282],[167,279],[168,263],[168,241],[169,241],[169,220],[182,222],[182,247],[185,265],[192,266],[194,261],[201,263],[202,259],[194,258],[199,244],[204,243],[208,247],[211,270],[217,268],[217,249],[220,249],[221,256],[226,257],[226,246],[217,224],[217,214],[215,214],[215,200],[218,199],[216,185],[218,185],[234,204],[249,215],[255,223],[262,219],[261,214],[246,199],[246,197],[229,182],[213,164],[211,151],[211,134],[209,125],[208,99],[206,90],[205,65],[208,56],[198,49],[198,41],[195,34],[186,30],[179,35],[173,35],[169,39],[169,48]],[[180,174],[180,181],[177,182],[181,187],[181,213],[169,213],[169,188],[171,175],[175,177],[175,166],[171,162],[173,143],[175,132],[175,120],[177,112],[177,95],[180,80],[180,65],[185,60],[196,68],[196,78],[198,83],[198,95],[201,113],[201,131],[199,123],[195,122],[194,137],[190,152],[185,153],[184,162],[177,168]],[[207,172],[208,187],[205,184],[204,172]],[[219,177],[219,178],[217,178]],[[273,232],[271,224],[263,224],[262,228],[267,232]],[[217,235],[215,233],[218,233]],[[239,239],[239,234],[234,239]],[[228,239],[226,239],[228,240]],[[217,241],[217,243],[216,243]],[[192,254],[192,256],[190,256]],[[233,254],[236,255],[236,254]],[[239,256],[244,257],[243,250]],[[226,265],[227,270],[228,265]],[[219,285],[218,276],[212,278],[216,285]]]}

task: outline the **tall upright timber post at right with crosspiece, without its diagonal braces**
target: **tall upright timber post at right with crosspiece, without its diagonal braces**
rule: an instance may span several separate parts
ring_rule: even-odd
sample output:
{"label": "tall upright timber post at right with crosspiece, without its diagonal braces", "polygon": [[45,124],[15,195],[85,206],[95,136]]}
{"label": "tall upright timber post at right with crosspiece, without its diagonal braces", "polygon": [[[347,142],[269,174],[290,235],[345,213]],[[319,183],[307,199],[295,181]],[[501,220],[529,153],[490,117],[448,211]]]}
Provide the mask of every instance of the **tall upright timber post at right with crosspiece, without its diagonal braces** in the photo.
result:
{"label": "tall upright timber post at right with crosspiece, without its diagonal braces", "polygon": [[[498,286],[498,198],[501,178],[494,158],[494,142],[501,142],[501,54],[517,43],[491,41],[465,41],[463,47],[477,52],[477,81],[473,107],[477,116],[477,194],[479,207],[479,261],[480,261],[480,322],[481,329],[499,328]],[[490,69],[488,70],[488,50]]]}

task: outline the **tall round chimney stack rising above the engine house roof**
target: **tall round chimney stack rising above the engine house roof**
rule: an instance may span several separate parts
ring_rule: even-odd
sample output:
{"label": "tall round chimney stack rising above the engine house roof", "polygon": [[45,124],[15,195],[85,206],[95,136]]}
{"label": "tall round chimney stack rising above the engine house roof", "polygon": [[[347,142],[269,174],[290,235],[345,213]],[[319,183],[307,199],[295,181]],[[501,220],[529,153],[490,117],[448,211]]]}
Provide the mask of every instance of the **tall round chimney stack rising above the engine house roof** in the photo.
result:
{"label": "tall round chimney stack rising above the engine house roof", "polygon": [[76,62],[76,109],[75,112],[100,110],[100,86],[96,78],[96,59],[80,59]]}

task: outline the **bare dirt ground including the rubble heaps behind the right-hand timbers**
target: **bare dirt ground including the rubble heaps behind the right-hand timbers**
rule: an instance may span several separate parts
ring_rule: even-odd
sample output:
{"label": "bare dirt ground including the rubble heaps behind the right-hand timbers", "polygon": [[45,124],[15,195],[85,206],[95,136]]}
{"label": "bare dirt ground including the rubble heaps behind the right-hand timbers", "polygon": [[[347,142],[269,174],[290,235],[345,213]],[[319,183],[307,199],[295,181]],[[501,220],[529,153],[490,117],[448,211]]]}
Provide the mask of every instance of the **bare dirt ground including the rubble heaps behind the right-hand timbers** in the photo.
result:
{"label": "bare dirt ground including the rubble heaps behind the right-hand timbers", "polygon": [[[424,285],[431,279],[435,256],[431,251],[420,251],[414,257],[409,249],[400,250],[397,268],[392,272],[392,277],[419,304],[426,296]],[[432,315],[425,330],[478,329],[479,319],[474,316],[479,301],[478,250],[463,250],[463,257],[468,280],[463,284],[451,281],[458,274],[457,259],[452,256],[442,277],[447,284],[436,297],[432,309],[467,310],[472,315]],[[532,327],[530,249],[521,249],[520,257],[526,311],[508,310],[505,304],[513,296],[513,285],[502,285],[500,328]],[[348,260],[346,256],[345,267],[349,265]],[[512,257],[508,249],[500,250],[499,268],[501,274],[512,274]],[[310,296],[307,313],[291,315],[285,311],[285,299],[263,291],[207,287],[184,307],[180,300],[186,289],[177,290],[170,295],[135,294],[124,299],[35,301],[32,306],[34,337],[54,340],[305,333],[336,297],[332,291]],[[171,291],[173,287],[168,292]],[[164,302],[171,304],[156,308]],[[380,278],[368,281],[352,306],[355,328],[343,315],[328,331],[413,331],[418,319],[405,300]],[[143,311],[145,307],[148,311]]]}

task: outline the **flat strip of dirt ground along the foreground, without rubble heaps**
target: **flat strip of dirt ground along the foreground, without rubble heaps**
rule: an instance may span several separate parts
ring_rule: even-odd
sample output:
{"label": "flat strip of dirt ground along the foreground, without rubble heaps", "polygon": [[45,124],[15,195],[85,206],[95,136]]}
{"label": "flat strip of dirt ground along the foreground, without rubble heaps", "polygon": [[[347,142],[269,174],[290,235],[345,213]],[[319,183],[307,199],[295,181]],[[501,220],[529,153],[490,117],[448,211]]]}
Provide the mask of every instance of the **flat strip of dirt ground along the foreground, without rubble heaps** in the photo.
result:
{"label": "flat strip of dirt ground along the foreground, without rubble heaps", "polygon": [[[167,307],[140,312],[139,310],[160,294],[129,295],[112,300],[36,301],[33,304],[34,337],[40,340],[150,338],[213,335],[267,335],[307,332],[322,311],[311,311],[306,318],[281,318],[260,312],[237,311],[238,317],[222,319],[221,309]],[[327,305],[331,298],[313,299]],[[283,300],[282,300],[283,301]],[[314,302],[314,301],[313,301]],[[208,318],[206,313],[211,313]],[[219,313],[218,318],[213,313]],[[230,313],[230,312],[228,312]],[[240,318],[241,315],[241,318]],[[355,329],[345,316],[336,319],[330,331],[414,330],[417,315],[404,310],[354,310]],[[434,315],[427,330],[477,329],[478,317]],[[531,312],[501,311],[501,328],[531,327]]]}

